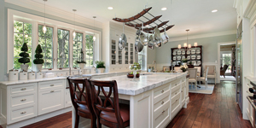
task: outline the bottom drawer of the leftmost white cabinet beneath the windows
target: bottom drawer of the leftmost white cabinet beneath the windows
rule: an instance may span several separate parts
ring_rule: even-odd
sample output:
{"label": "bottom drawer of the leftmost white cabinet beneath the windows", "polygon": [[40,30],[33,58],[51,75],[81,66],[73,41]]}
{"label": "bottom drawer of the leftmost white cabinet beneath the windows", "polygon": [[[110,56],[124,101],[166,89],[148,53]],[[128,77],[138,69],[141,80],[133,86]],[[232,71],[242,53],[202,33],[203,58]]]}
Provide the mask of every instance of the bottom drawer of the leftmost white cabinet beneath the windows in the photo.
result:
{"label": "bottom drawer of the leftmost white cabinet beneath the windows", "polygon": [[20,120],[29,119],[29,118],[35,117],[36,115],[37,115],[36,108],[34,106],[12,110],[10,112],[9,124],[18,122]]}

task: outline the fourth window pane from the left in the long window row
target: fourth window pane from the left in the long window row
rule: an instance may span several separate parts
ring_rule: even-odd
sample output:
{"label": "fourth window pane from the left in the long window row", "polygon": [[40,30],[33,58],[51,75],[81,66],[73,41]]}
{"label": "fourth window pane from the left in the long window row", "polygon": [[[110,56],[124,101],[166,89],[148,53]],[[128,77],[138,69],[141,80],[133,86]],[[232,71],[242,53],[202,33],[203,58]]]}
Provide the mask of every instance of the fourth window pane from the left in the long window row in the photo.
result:
{"label": "fourth window pane from the left in the long window row", "polygon": [[76,32],[76,36],[73,38],[73,67],[79,67],[76,61],[80,60],[80,52],[83,50],[83,33]]}

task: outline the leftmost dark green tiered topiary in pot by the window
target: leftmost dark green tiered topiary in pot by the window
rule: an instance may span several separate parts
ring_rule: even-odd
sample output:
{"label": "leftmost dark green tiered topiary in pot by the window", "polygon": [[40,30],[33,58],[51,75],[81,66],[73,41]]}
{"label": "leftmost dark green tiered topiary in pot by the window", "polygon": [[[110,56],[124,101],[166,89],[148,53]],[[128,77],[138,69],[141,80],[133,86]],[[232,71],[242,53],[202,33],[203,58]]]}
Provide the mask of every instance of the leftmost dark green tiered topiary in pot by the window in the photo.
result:
{"label": "leftmost dark green tiered topiary in pot by the window", "polygon": [[20,53],[20,59],[18,60],[21,64],[20,64],[20,68],[22,71],[27,71],[28,69],[28,64],[26,63],[29,63],[30,60],[29,60],[29,54],[26,53],[27,52],[27,45],[26,43],[24,43],[20,49],[22,52]]}

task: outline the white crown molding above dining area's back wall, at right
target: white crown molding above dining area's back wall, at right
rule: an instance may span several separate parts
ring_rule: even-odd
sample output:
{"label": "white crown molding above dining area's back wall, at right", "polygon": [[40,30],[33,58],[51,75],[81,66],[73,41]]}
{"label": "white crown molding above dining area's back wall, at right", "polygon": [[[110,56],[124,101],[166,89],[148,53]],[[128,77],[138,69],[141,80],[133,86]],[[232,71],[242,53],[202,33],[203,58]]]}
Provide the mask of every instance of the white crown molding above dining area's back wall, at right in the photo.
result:
{"label": "white crown molding above dining area's back wall, at right", "polygon": [[[224,32],[212,32],[207,34],[198,34],[198,35],[189,36],[189,39],[210,38],[210,37],[218,37],[218,36],[231,35],[231,34],[236,34],[236,30],[224,31]],[[178,37],[178,38],[169,38],[169,42],[186,40],[186,39],[187,39],[187,36]]]}

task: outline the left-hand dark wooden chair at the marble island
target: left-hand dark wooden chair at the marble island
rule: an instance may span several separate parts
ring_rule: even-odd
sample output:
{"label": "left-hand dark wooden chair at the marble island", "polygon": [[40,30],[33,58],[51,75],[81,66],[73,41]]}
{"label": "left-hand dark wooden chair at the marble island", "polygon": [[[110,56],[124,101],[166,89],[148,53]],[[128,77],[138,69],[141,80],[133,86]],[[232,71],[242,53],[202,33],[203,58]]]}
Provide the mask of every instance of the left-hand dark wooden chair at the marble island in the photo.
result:
{"label": "left-hand dark wooden chair at the marble island", "polygon": [[[75,128],[79,127],[79,117],[91,119],[90,127],[96,128],[96,114],[90,100],[90,86],[87,79],[67,78],[73,108],[76,111]],[[84,92],[85,90],[85,92]]]}

